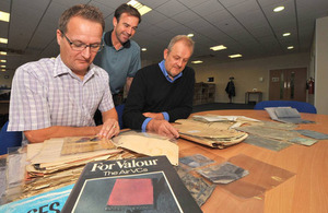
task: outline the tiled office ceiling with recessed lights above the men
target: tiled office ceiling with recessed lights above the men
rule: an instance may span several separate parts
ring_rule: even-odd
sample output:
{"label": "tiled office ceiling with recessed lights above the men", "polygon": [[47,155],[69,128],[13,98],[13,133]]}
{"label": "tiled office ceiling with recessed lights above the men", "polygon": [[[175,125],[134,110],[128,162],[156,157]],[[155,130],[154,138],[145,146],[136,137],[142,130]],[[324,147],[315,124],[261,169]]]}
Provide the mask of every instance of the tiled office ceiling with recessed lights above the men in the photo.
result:
{"label": "tiled office ceiling with recessed lights above the men", "polygon": [[[106,31],[112,28],[115,9],[124,0],[1,0],[0,10],[9,12],[9,23],[0,22],[0,37],[8,38],[0,50],[8,50],[7,69],[59,54],[56,28],[60,14],[77,3],[98,7],[105,16]],[[328,0],[140,0],[153,10],[142,16],[133,39],[145,47],[142,60],[160,61],[169,39],[194,33],[192,60],[215,59],[218,62],[308,52],[315,20],[328,15]],[[285,10],[272,12],[284,5]],[[283,37],[290,32],[292,35]],[[209,48],[224,45],[227,49]],[[288,46],[294,46],[288,50]],[[230,59],[242,54],[241,59]]]}

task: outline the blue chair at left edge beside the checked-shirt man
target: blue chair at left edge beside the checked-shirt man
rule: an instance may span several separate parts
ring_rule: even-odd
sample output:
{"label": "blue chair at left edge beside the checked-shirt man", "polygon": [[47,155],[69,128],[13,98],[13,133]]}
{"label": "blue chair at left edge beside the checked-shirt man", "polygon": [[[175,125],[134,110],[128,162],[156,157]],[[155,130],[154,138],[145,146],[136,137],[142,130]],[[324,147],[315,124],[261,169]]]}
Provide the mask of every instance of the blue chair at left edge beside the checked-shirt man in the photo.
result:
{"label": "blue chair at left edge beside the checked-shirt man", "polygon": [[7,131],[8,121],[0,131],[0,155],[8,154],[9,147],[22,145],[23,133],[21,131]]}

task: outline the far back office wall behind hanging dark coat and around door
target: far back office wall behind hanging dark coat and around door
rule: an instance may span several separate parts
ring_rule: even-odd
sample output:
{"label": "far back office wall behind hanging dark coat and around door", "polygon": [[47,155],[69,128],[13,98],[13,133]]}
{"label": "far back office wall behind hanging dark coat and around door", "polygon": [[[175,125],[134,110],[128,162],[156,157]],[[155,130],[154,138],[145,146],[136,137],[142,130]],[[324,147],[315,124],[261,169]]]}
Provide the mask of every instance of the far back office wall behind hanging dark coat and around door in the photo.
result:
{"label": "far back office wall behind hanging dark coat and around door", "polygon": [[[234,76],[236,96],[233,98],[233,103],[242,104],[245,103],[245,92],[253,91],[253,88],[263,93],[263,100],[269,98],[270,70],[308,68],[308,64],[309,52],[303,52],[226,63],[216,63],[212,60],[201,64],[191,64],[191,67],[196,71],[196,82],[207,82],[208,78],[214,78],[216,103],[230,102],[224,90],[230,76]],[[250,97],[250,100],[256,99],[255,96]]]}

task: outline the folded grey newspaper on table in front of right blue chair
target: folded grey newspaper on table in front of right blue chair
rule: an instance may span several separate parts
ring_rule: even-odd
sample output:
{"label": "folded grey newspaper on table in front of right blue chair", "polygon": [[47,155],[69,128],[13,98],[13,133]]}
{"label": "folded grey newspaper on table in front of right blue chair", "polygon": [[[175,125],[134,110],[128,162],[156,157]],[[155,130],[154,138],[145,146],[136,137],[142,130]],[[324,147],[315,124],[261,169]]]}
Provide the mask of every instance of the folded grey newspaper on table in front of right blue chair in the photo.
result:
{"label": "folded grey newspaper on table in front of right blue chair", "polygon": [[266,107],[265,108],[272,120],[280,122],[292,122],[292,123],[313,123],[312,120],[304,120],[301,118],[297,109],[292,107]]}

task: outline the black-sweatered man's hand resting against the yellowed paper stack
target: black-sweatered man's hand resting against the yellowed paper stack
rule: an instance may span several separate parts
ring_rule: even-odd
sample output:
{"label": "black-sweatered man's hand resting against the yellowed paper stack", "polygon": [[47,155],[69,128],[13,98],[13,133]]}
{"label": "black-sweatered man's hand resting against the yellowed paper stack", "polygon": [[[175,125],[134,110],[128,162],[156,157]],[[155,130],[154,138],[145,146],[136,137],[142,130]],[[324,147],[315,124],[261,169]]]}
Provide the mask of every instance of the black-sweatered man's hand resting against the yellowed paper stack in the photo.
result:
{"label": "black-sweatered man's hand resting against the yellowed paper stack", "polygon": [[166,120],[152,119],[147,125],[147,129],[151,132],[167,137],[168,139],[179,138],[178,131]]}

